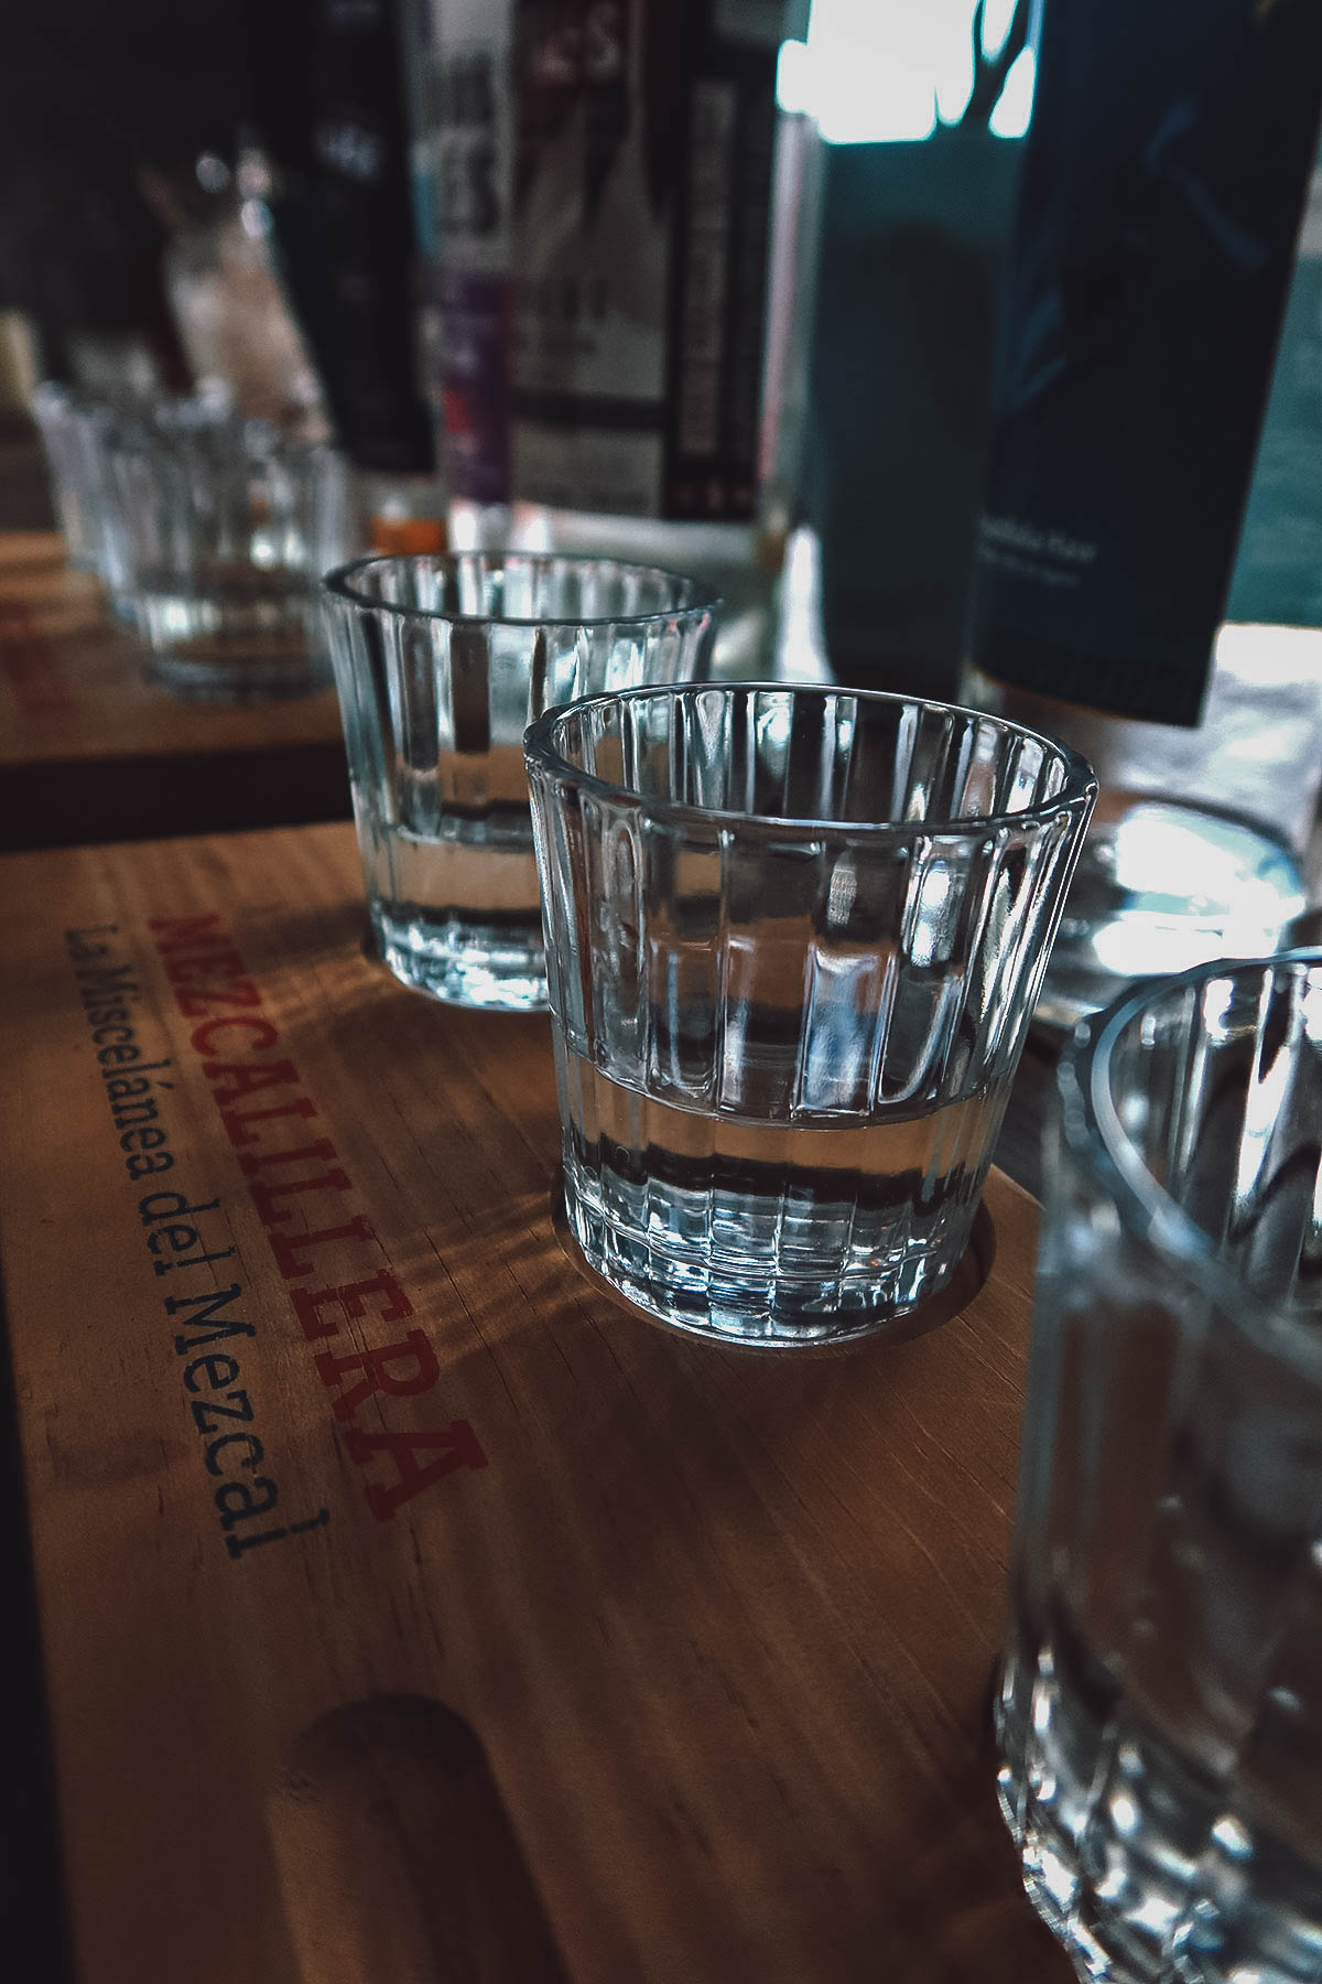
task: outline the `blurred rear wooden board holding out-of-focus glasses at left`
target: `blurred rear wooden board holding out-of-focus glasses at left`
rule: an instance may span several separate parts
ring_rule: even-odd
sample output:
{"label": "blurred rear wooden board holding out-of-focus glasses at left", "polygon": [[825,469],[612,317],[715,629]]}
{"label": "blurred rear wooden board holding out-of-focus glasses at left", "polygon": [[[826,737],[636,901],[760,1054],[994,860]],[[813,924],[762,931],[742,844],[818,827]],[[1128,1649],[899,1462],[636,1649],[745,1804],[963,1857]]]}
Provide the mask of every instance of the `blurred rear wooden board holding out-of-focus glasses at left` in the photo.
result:
{"label": "blurred rear wooden board holding out-of-focus glasses at left", "polygon": [[0,845],[349,815],[331,688],[198,702],[149,681],[147,661],[61,538],[0,536]]}

